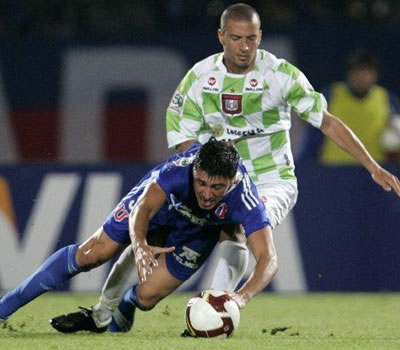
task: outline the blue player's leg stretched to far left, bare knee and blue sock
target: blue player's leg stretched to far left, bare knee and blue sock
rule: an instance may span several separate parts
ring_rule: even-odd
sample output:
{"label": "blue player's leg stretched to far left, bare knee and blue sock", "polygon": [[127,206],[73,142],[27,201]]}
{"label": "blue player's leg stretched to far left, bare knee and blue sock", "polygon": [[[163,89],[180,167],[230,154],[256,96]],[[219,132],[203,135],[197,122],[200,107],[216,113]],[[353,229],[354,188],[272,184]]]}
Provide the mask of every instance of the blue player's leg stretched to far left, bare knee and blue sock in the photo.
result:
{"label": "blue player's leg stretched to far left, bare knee and blue sock", "polygon": [[57,288],[82,271],[101,265],[122,248],[100,228],[82,245],[59,249],[21,285],[0,299],[0,318],[6,319],[39,295]]}

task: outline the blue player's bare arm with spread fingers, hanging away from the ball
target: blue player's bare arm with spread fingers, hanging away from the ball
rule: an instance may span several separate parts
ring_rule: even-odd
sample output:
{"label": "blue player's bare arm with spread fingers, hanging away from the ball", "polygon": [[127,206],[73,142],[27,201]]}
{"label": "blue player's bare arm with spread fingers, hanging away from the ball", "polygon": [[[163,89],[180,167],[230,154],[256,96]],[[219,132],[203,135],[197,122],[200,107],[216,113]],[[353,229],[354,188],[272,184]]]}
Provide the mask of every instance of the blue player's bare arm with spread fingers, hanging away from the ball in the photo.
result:
{"label": "blue player's bare arm with spread fingers, hanging away from the ball", "polygon": [[146,281],[153,273],[153,266],[158,266],[156,256],[161,253],[172,252],[175,247],[154,247],[147,244],[149,221],[160,210],[167,196],[157,184],[150,184],[139,198],[129,216],[129,235],[132,249],[135,254],[136,269],[139,283]]}

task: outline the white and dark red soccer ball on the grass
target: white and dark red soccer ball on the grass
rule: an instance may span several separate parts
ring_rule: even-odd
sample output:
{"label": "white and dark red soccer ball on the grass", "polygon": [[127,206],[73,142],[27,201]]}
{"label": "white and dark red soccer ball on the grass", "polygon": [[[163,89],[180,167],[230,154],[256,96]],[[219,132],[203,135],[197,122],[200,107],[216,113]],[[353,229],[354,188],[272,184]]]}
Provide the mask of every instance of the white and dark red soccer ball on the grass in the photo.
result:
{"label": "white and dark red soccer ball on the grass", "polygon": [[185,321],[194,337],[227,338],[239,327],[240,311],[226,292],[205,290],[189,300]]}

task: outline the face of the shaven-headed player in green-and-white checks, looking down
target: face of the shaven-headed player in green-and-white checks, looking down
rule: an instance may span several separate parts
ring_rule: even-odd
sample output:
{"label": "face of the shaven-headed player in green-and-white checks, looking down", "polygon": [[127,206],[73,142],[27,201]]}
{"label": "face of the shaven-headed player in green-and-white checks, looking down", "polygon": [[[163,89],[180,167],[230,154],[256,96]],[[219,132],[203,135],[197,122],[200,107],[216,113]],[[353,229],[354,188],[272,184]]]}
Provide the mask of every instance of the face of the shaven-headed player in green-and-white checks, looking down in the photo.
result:
{"label": "face of the shaven-headed player in green-and-white checks, looking down", "polygon": [[260,46],[260,23],[228,20],[225,28],[218,30],[218,39],[224,47],[224,63],[228,72],[246,74],[254,67]]}

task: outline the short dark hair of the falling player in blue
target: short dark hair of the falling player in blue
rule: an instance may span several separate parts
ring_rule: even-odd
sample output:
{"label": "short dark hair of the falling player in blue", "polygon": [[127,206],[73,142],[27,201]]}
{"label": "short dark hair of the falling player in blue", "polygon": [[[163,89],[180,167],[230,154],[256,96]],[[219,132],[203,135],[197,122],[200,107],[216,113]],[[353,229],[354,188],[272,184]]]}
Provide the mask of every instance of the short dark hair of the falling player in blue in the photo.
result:
{"label": "short dark hair of the falling player in blue", "polygon": [[235,146],[212,137],[197,152],[193,167],[204,170],[210,177],[222,176],[232,179],[236,174],[239,159]]}

